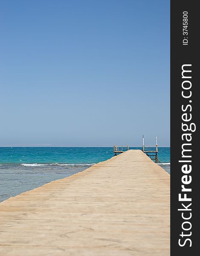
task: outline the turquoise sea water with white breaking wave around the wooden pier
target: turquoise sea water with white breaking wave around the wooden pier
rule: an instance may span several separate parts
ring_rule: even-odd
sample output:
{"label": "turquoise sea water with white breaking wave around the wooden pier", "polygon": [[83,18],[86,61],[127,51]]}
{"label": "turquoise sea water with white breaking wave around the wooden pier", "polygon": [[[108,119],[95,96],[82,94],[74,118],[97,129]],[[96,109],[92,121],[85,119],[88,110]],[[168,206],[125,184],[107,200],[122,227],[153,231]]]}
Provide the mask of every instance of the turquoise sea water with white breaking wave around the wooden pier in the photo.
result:
{"label": "turquoise sea water with white breaking wave around the wooden pier", "polygon": [[[160,166],[170,174],[170,148],[158,150]],[[113,147],[0,147],[0,201],[113,156]]]}

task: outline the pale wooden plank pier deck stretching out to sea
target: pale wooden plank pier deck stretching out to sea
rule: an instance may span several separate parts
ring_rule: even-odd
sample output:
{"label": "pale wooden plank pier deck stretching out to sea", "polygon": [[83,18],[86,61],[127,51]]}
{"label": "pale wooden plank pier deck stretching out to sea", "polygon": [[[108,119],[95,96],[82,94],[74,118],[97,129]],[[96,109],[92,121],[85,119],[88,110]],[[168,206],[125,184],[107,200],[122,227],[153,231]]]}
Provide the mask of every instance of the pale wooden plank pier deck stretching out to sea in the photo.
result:
{"label": "pale wooden plank pier deck stretching out to sea", "polygon": [[0,256],[169,256],[170,175],[140,150],[0,203]]}

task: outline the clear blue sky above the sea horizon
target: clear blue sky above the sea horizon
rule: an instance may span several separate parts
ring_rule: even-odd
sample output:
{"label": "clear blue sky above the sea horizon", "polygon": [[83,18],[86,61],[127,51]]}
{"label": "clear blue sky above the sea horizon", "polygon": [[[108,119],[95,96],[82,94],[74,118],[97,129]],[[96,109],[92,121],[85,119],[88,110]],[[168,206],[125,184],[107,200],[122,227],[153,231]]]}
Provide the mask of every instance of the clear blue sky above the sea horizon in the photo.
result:
{"label": "clear blue sky above the sea horizon", "polygon": [[169,146],[169,0],[0,1],[0,145]]}

